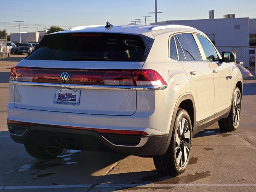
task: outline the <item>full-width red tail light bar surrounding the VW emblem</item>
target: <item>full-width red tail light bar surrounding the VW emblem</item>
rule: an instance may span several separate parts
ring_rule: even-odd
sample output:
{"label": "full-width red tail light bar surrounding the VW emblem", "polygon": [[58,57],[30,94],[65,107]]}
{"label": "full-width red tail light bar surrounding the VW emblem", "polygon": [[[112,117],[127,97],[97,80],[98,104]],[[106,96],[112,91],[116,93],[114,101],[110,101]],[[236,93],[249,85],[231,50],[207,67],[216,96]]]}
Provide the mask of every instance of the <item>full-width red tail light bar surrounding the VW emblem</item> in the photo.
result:
{"label": "full-width red tail light bar surrounding the VW emblem", "polygon": [[136,70],[62,70],[15,66],[10,80],[20,82],[57,83],[62,72],[68,72],[68,84],[110,85],[110,86],[162,86],[166,85],[158,72],[151,69]]}

